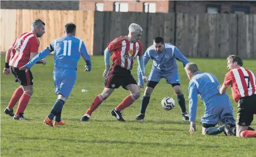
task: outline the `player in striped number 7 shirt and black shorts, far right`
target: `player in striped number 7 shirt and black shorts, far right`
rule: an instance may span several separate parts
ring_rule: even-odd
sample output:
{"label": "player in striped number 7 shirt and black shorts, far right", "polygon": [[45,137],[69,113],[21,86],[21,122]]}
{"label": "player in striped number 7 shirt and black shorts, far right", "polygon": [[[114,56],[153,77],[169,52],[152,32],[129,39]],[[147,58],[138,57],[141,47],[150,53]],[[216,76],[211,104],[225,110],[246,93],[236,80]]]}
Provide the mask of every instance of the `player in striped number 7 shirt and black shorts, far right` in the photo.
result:
{"label": "player in striped number 7 shirt and black shorts, far right", "polygon": [[233,131],[233,133],[238,137],[256,137],[256,131],[249,127],[253,121],[253,115],[256,115],[255,75],[243,68],[243,61],[236,55],[227,57],[227,69],[230,71],[225,76],[220,93],[224,94],[227,87],[231,85],[233,99],[238,102],[236,132]]}

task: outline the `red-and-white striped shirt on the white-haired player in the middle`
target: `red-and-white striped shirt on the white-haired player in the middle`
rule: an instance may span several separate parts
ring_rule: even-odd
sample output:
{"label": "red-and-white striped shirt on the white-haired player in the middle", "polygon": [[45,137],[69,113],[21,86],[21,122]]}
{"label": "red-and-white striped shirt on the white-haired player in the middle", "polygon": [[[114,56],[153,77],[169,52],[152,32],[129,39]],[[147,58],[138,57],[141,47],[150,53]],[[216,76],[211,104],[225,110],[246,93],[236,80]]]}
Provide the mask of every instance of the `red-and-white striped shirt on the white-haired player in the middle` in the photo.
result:
{"label": "red-and-white striped shirt on the white-haired player in the middle", "polygon": [[120,36],[110,42],[107,48],[113,52],[112,61],[114,64],[127,70],[132,69],[136,56],[142,56],[142,44],[138,42],[129,42],[126,36]]}

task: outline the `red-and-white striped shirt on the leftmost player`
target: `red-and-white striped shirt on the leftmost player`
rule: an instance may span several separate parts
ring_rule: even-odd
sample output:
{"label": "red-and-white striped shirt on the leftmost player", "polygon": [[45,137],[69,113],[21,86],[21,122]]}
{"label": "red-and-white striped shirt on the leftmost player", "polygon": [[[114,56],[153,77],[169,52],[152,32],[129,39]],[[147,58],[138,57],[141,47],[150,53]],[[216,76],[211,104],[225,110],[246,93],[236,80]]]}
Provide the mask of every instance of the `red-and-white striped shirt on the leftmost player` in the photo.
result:
{"label": "red-and-white striped shirt on the leftmost player", "polygon": [[12,44],[11,58],[9,65],[21,68],[30,60],[30,53],[37,53],[39,40],[32,32],[26,32],[17,37]]}

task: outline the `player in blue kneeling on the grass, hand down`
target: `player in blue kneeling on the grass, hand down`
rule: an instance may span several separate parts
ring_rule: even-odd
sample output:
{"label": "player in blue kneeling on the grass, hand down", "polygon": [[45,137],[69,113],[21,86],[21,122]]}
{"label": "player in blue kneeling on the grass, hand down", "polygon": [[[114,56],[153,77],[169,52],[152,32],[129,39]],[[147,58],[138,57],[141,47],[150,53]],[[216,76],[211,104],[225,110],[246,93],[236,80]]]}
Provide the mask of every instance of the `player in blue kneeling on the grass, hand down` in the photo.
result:
{"label": "player in blue kneeling on the grass, hand down", "polygon": [[225,125],[215,127],[219,121],[230,123],[234,127],[235,117],[232,104],[227,94],[220,94],[220,83],[217,78],[210,73],[200,72],[195,63],[188,63],[185,70],[190,79],[188,85],[190,134],[196,131],[197,96],[202,99],[205,105],[205,115],[201,118],[203,135],[217,135],[224,131],[227,132]]}

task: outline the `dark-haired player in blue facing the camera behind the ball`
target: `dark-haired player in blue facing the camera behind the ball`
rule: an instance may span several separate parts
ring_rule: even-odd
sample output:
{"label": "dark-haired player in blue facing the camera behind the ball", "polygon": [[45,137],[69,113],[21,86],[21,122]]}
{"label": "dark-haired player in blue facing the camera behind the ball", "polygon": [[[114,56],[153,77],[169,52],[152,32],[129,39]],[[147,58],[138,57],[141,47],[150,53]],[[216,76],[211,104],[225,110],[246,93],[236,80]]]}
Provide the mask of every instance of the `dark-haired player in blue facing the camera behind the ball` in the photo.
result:
{"label": "dark-haired player in blue facing the camera behind the ball", "polygon": [[[162,78],[166,79],[167,84],[172,85],[177,95],[179,107],[181,107],[182,119],[184,121],[188,120],[185,98],[181,91],[181,84],[179,84],[178,65],[176,63],[177,59],[183,63],[183,66],[185,66],[189,62],[187,58],[182,55],[176,46],[164,43],[162,37],[155,37],[153,45],[148,47],[144,53],[143,59],[144,66],[146,66],[150,59],[153,60],[153,65],[149,75],[148,84],[146,85],[144,95],[141,98],[140,114],[136,116],[136,120],[144,121],[146,107],[149,104],[151,93]],[[138,67],[138,79],[140,88],[144,88],[140,67]]]}

